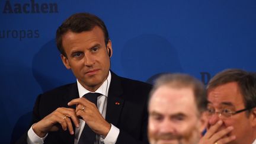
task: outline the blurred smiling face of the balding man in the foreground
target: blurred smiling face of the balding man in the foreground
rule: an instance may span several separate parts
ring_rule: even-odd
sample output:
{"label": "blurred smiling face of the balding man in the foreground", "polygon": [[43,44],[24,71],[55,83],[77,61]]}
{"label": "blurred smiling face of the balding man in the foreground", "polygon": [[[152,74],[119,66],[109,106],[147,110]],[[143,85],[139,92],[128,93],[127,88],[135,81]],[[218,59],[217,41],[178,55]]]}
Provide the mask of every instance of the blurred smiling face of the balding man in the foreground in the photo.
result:
{"label": "blurred smiling face of the balding man in the foreground", "polygon": [[191,88],[161,86],[149,102],[148,135],[151,144],[197,143],[203,121]]}

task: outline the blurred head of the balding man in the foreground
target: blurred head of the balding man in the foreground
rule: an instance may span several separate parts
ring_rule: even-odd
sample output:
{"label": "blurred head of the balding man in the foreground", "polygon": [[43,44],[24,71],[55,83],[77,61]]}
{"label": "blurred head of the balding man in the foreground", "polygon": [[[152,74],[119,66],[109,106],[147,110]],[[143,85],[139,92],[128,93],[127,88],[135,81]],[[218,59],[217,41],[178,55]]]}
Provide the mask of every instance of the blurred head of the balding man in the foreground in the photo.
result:
{"label": "blurred head of the balding man in the foreground", "polygon": [[162,75],[149,98],[149,142],[198,143],[206,127],[206,104],[206,91],[199,80],[183,74]]}

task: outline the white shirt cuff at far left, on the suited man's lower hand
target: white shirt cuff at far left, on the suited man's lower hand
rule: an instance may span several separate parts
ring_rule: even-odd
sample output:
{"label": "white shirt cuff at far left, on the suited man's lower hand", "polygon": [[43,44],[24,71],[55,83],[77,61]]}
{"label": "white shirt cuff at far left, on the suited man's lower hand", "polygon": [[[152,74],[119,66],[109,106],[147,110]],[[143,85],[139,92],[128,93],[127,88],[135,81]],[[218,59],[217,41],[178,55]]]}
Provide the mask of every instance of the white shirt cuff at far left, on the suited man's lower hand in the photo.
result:
{"label": "white shirt cuff at far left, on the suited man's lower hand", "polygon": [[32,127],[33,126],[31,126],[30,129],[28,130],[27,143],[28,144],[33,144],[33,143],[43,144],[44,139],[46,139],[46,136],[48,135],[48,133],[44,137],[39,137],[36,135],[36,133],[34,132]]}

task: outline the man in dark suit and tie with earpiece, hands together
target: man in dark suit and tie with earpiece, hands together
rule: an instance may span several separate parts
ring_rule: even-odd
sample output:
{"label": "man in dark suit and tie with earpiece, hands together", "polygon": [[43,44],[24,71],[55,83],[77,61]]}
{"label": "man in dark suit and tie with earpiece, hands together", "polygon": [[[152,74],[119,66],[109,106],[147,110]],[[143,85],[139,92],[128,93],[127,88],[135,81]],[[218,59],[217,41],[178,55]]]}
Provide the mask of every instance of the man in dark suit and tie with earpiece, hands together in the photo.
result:
{"label": "man in dark suit and tie with earpiece, hands together", "polygon": [[[148,143],[151,85],[110,71],[113,50],[104,22],[92,14],[74,14],[58,28],[56,41],[76,83],[37,97],[33,125],[19,143],[80,144],[88,131],[94,133],[91,143]],[[94,103],[85,96],[92,93],[98,96]]]}

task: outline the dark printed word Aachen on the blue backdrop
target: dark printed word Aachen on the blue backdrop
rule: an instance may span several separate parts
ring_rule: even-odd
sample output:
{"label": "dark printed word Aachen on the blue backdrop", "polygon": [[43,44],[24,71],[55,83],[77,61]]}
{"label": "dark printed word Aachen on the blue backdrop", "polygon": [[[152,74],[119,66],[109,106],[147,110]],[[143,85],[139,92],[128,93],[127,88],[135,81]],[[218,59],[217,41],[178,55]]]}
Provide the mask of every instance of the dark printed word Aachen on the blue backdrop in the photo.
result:
{"label": "dark printed word Aachen on the blue backdrop", "polygon": [[15,3],[11,4],[10,1],[5,1],[4,14],[35,14],[35,13],[57,13],[57,4],[37,4],[34,0],[31,0],[30,3]]}

